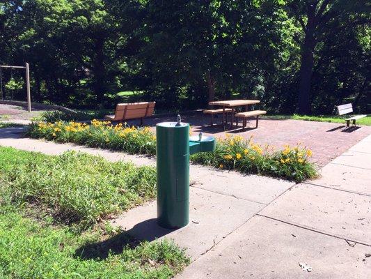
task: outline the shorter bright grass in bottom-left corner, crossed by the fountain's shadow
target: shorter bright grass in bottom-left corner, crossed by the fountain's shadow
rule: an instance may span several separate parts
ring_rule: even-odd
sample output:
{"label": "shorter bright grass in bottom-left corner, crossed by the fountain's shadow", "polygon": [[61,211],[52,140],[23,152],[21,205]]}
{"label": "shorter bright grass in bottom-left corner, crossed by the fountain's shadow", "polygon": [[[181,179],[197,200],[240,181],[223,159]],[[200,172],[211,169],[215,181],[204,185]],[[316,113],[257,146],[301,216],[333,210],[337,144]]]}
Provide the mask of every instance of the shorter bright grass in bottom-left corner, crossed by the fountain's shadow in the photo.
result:
{"label": "shorter bright grass in bottom-left corner, crossed by the fountain's shadow", "polygon": [[170,241],[139,243],[104,229],[81,234],[11,199],[0,197],[0,278],[166,279],[189,264]]}

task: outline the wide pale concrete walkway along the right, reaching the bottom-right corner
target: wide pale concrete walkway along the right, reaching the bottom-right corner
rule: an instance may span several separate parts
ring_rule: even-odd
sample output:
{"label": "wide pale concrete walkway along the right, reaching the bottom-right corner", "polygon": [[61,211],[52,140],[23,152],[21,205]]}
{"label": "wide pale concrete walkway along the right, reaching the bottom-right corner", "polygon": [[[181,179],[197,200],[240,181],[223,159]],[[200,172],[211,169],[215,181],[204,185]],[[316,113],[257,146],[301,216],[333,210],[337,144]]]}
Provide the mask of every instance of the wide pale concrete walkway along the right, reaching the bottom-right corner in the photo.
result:
{"label": "wide pale concrete walkway along the right, reaching the bottom-right corner", "polygon": [[[371,278],[371,136],[287,190],[177,278]],[[303,271],[308,264],[313,271]]]}

